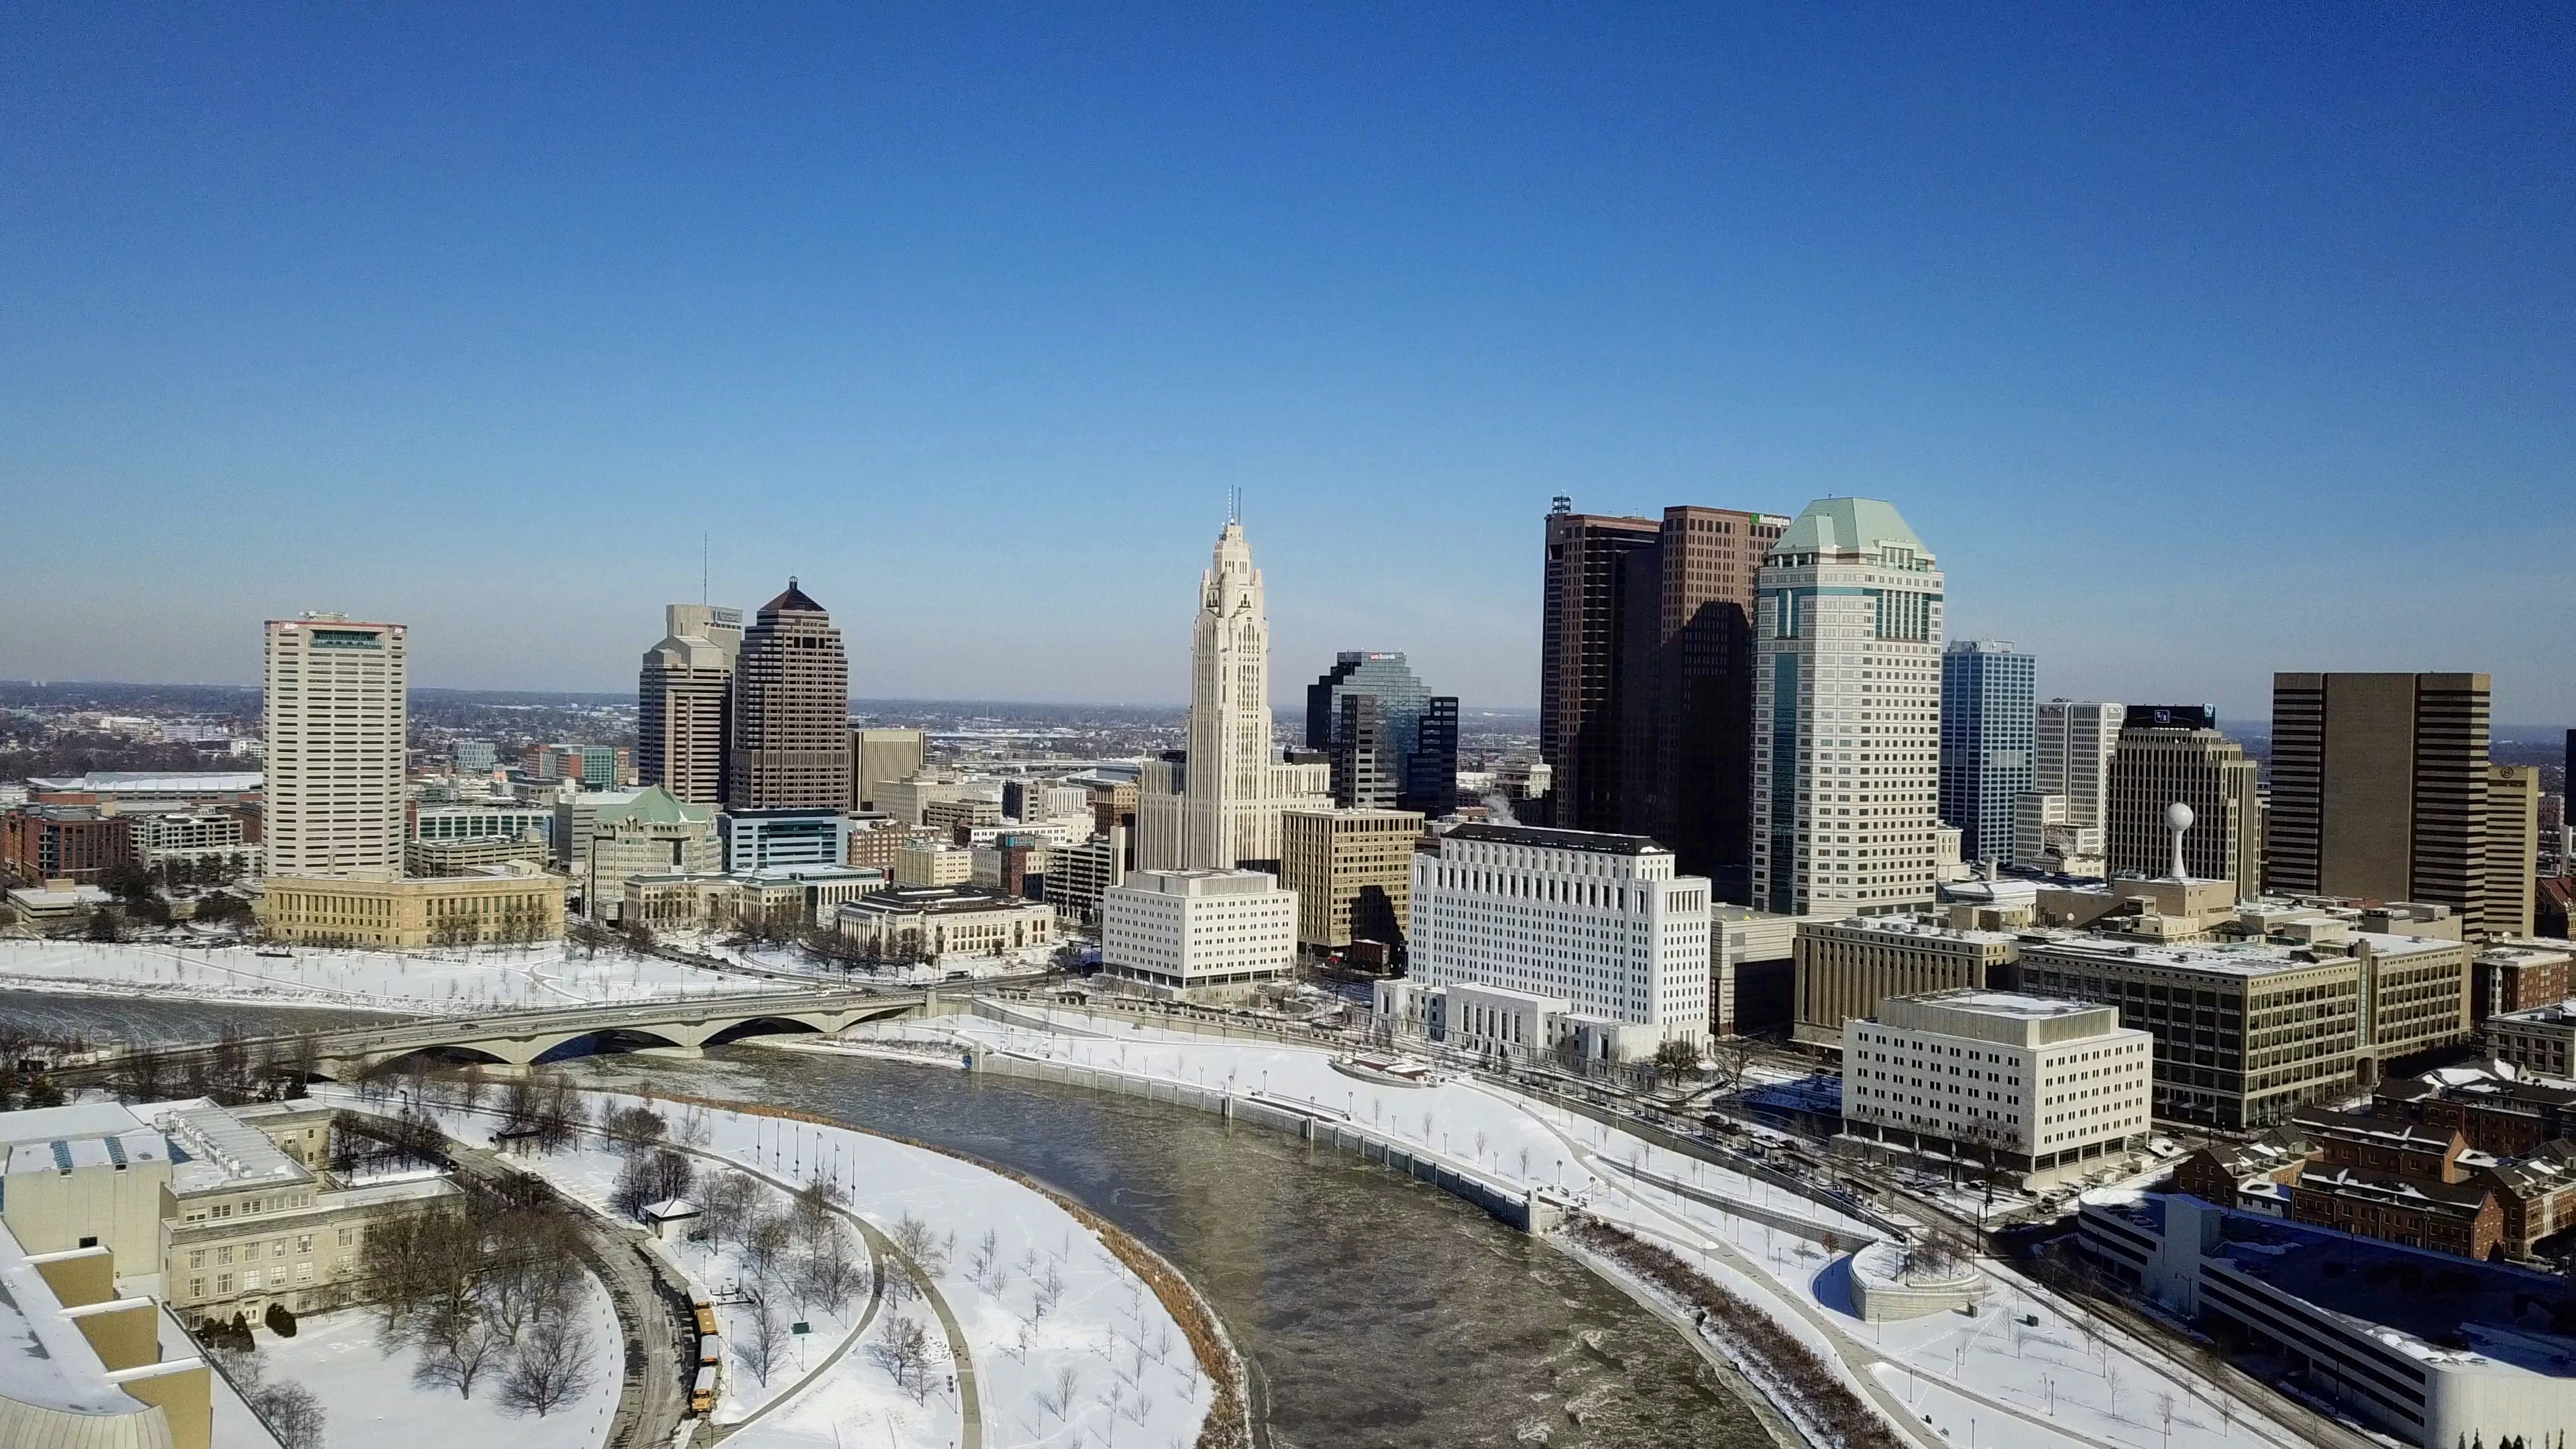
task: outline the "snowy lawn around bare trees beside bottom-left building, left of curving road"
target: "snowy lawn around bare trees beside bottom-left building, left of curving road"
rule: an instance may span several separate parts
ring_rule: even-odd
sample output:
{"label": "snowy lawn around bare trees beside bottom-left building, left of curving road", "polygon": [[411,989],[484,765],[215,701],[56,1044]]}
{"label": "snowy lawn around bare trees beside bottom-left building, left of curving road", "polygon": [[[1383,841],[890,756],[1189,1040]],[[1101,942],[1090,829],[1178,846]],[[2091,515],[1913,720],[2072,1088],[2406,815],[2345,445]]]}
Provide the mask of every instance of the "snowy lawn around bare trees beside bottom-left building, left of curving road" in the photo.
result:
{"label": "snowy lawn around bare trees beside bottom-left building, left of curving road", "polygon": [[[268,1379],[291,1379],[322,1400],[322,1441],[348,1449],[415,1444],[507,1444],[510,1449],[595,1449],[618,1408],[623,1351],[608,1289],[582,1274],[577,1320],[590,1330],[590,1387],[564,1408],[510,1415],[500,1408],[500,1369],[474,1397],[412,1385],[412,1354],[376,1343],[376,1318],[361,1307],[307,1318],[294,1338],[260,1333]],[[222,1444],[222,1441],[216,1441]]]}

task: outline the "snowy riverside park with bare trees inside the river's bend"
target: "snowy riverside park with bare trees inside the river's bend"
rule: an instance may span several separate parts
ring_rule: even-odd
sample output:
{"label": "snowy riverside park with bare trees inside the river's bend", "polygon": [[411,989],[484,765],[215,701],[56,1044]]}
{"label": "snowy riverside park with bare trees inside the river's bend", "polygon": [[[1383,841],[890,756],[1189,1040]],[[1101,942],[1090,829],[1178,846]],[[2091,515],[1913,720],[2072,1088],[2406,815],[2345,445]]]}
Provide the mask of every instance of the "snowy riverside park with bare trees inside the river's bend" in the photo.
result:
{"label": "snowy riverside park with bare trees inside the river's bend", "polygon": [[[948,1449],[971,1390],[987,1444],[1162,1446],[1193,1444],[1218,1403],[1157,1292],[1030,1186],[845,1127],[616,1093],[587,1101],[592,1122],[636,1109],[659,1116],[670,1134],[654,1155],[690,1163],[672,1186],[716,1196],[706,1238],[672,1243],[667,1256],[716,1305],[726,1361],[714,1418],[729,1441]],[[345,1104],[366,1106],[355,1093]],[[435,1088],[433,1111],[459,1140],[492,1134],[489,1116],[435,1101]],[[513,1158],[629,1222],[634,1189],[621,1178],[634,1160],[605,1134]],[[737,1181],[755,1196],[734,1201]],[[793,1220],[799,1199],[829,1201],[866,1238],[863,1287],[842,1302],[806,1292],[804,1274],[755,1261],[752,1225]],[[762,1343],[765,1318],[806,1333]]]}

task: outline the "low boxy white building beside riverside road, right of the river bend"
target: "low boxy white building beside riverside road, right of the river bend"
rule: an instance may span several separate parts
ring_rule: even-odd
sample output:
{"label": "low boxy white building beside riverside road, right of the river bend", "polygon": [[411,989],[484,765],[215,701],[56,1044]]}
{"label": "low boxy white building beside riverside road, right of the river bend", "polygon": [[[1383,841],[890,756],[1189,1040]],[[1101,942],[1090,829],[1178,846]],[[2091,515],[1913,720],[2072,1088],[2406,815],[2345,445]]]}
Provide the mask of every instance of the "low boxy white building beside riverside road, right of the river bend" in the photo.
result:
{"label": "low boxy white building beside riverside road, right of the river bend", "polygon": [[2146,1137],[2154,1096],[2156,1039],[2117,1006],[1971,987],[1891,995],[1842,1026],[1844,1132],[1875,1142],[2084,1168]]}

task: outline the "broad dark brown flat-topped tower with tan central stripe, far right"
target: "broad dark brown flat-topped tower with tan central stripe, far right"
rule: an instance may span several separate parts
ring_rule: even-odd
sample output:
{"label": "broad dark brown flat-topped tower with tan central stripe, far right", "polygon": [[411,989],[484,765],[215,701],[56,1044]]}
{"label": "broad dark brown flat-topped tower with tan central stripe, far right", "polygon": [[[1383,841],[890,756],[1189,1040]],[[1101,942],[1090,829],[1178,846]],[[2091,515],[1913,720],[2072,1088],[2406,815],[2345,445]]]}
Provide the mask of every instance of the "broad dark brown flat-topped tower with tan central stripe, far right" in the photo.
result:
{"label": "broad dark brown flat-topped tower with tan central stripe, far right", "polygon": [[2447,905],[2476,931],[2486,712],[2483,673],[2272,676],[2264,887]]}

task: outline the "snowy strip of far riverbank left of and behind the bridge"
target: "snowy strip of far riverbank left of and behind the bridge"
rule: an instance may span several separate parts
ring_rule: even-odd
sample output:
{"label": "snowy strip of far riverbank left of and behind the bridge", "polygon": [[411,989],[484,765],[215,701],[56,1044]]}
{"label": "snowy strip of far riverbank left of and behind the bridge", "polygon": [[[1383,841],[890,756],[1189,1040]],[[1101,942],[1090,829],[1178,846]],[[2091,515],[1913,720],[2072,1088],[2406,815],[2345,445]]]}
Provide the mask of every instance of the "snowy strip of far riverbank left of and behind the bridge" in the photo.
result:
{"label": "snowy strip of far riverbank left of and behind the bridge", "polygon": [[0,941],[0,987],[417,1013],[590,1006],[781,990],[778,982],[562,941],[425,951]]}

